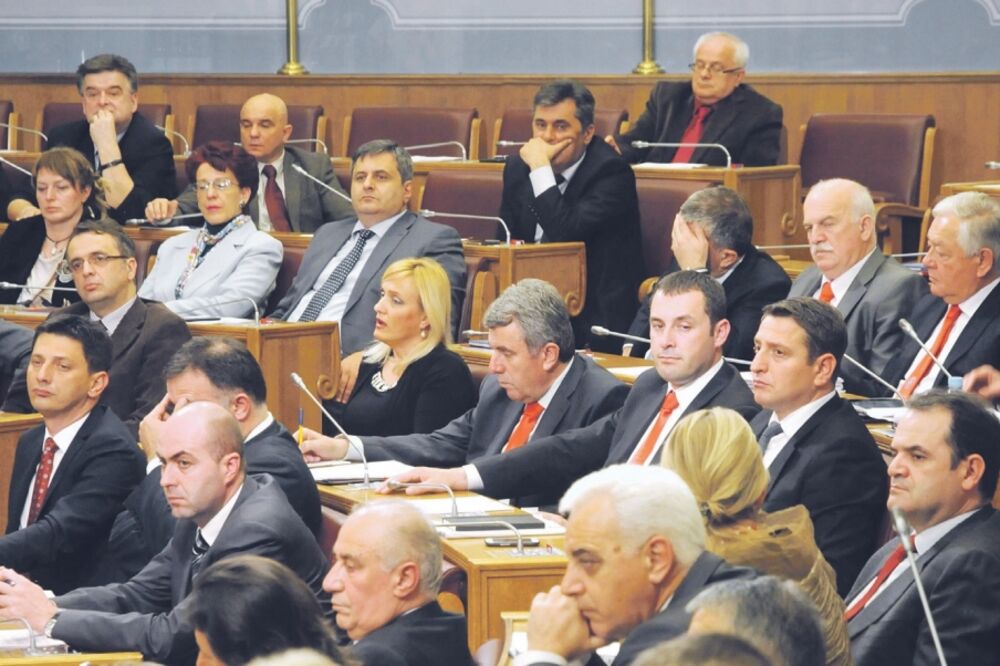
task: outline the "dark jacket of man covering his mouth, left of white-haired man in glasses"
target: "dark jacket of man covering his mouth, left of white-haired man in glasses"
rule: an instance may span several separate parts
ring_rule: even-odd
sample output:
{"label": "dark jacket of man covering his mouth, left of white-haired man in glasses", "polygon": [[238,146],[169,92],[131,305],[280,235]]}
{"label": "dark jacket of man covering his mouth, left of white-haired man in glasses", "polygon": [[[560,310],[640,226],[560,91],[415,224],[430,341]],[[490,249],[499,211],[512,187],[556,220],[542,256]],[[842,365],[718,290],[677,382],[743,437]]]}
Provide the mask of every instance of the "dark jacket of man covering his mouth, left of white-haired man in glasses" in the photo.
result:
{"label": "dark jacket of man covering his mouth, left of white-haired man in glasses", "polygon": [[583,162],[560,194],[550,187],[535,197],[528,165],[517,155],[503,171],[500,217],[511,236],[534,242],[583,241],[587,245],[587,293],[583,311],[573,319],[576,344],[614,351],[613,340],[591,336],[599,324],[623,331],[635,314],[635,293],[645,275],[639,236],[639,199],[635,174],[621,157],[595,137]]}

